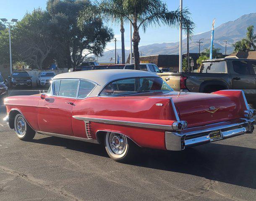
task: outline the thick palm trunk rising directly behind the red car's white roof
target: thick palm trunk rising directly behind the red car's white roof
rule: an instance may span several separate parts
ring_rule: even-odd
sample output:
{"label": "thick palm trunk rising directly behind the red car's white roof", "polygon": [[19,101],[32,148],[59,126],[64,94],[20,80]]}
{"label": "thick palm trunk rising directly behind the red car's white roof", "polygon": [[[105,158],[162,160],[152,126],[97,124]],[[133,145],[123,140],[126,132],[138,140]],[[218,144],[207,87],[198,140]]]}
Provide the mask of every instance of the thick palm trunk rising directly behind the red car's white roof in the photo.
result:
{"label": "thick palm trunk rising directly behind the red car's white roof", "polygon": [[[141,38],[138,33],[138,26],[137,23],[134,21],[133,25],[133,54],[134,54],[134,67],[135,70],[140,70],[140,53],[138,52],[138,44]],[[132,59],[132,55],[131,55]]]}

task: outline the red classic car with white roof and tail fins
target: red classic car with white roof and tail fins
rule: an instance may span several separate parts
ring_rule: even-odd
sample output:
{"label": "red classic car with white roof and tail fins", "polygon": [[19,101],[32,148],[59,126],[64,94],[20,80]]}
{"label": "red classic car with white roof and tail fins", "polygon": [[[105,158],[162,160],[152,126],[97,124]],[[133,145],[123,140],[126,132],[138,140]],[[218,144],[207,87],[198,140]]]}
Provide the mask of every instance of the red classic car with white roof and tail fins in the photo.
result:
{"label": "red classic car with white roof and tail fins", "polygon": [[19,139],[35,133],[103,143],[116,161],[136,146],[180,151],[254,129],[241,90],[175,92],[162,78],[137,70],[56,75],[46,94],[5,99],[5,120]]}

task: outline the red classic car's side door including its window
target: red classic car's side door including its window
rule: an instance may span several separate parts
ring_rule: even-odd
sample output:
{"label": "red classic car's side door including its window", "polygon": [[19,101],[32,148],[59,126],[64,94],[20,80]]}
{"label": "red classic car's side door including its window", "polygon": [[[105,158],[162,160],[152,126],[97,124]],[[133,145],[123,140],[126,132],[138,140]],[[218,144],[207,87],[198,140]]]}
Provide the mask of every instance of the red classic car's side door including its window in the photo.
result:
{"label": "red classic car's side door including its window", "polygon": [[76,79],[54,80],[46,98],[40,100],[38,125],[40,131],[73,135],[72,110],[75,107],[78,83]]}

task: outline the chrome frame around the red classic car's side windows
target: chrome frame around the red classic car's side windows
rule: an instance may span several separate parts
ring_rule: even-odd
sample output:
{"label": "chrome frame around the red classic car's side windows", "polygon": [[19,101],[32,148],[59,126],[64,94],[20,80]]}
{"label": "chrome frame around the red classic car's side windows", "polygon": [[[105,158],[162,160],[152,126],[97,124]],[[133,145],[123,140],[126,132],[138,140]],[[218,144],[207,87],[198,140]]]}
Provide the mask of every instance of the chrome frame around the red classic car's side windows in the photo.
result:
{"label": "chrome frame around the red classic car's side windows", "polygon": [[[61,81],[62,80],[74,80],[74,81],[78,81],[78,85],[77,85],[77,89],[76,89],[76,97],[69,97],[69,96],[60,96],[60,95],[53,95],[55,94],[55,90],[54,90],[54,87],[53,87],[53,82],[55,81],[60,81],[60,84],[61,84]],[[87,81],[87,82],[91,82],[92,84],[94,84],[94,88],[90,91],[90,93],[87,94],[87,96],[85,98],[88,98],[88,96],[93,92],[93,90],[97,87],[97,83],[94,82],[94,81],[91,81],[91,80],[86,80],[86,79],[80,79],[80,78],[62,78],[62,79],[53,79],[52,80],[52,83],[51,83],[51,89],[52,89],[52,93],[51,94],[48,94],[50,96],[53,96],[53,97],[61,97],[61,98],[73,98],[73,99],[78,99],[78,100],[82,100],[82,99],[85,99],[85,98],[78,98],[78,93],[79,93],[79,88],[80,88],[80,82],[81,81]],[[60,90],[60,89],[59,89]],[[59,92],[58,92],[59,93]]]}

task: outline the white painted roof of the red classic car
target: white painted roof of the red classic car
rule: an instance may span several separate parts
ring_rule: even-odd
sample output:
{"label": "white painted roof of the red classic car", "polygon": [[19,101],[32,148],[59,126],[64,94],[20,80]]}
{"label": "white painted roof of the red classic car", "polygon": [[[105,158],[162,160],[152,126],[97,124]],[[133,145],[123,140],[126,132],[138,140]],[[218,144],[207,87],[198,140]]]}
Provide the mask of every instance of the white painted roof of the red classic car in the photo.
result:
{"label": "white painted roof of the red classic car", "polygon": [[66,72],[53,77],[55,79],[85,79],[91,80],[100,86],[104,86],[107,83],[129,77],[159,77],[151,72],[141,70],[84,70],[76,72]]}

